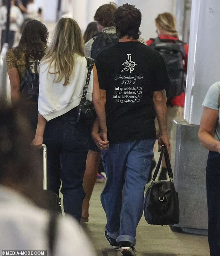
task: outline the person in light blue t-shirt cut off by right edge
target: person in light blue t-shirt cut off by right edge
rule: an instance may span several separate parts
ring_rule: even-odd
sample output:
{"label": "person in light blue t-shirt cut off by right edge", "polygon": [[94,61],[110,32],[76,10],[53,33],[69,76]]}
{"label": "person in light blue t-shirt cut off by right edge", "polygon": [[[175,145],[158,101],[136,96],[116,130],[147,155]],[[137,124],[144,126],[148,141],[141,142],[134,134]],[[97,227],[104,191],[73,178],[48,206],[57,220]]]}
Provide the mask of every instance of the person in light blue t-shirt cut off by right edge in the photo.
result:
{"label": "person in light blue t-shirt cut off by right edge", "polygon": [[206,166],[208,240],[211,256],[220,255],[220,82],[213,84],[203,101],[198,138],[209,149]]}

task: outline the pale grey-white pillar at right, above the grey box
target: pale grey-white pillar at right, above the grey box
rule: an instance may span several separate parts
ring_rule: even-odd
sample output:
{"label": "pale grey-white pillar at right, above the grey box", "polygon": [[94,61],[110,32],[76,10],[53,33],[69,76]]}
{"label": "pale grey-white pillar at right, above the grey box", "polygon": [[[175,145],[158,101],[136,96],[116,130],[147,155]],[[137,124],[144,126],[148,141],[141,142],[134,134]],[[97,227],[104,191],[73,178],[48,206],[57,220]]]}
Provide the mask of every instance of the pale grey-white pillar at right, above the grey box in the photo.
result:
{"label": "pale grey-white pillar at right, above the grey box", "polygon": [[219,0],[193,0],[184,119],[200,124],[202,102],[209,87],[220,80]]}

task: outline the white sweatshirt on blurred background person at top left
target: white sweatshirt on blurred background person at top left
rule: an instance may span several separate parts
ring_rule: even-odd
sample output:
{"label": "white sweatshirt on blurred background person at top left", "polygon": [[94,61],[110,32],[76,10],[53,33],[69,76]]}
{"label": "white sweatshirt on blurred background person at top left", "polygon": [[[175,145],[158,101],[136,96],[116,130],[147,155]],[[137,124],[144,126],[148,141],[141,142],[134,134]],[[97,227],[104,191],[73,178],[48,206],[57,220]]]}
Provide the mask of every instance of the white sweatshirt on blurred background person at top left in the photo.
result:
{"label": "white sweatshirt on blurred background person at top left", "polygon": [[[0,7],[0,26],[1,29],[6,29],[6,22],[7,22],[7,6],[3,5]],[[22,15],[22,12],[20,9],[12,5],[10,9],[10,18],[14,18],[16,22],[10,22],[9,30],[11,31],[17,31],[20,26],[22,25],[22,22],[24,21],[24,17]]]}

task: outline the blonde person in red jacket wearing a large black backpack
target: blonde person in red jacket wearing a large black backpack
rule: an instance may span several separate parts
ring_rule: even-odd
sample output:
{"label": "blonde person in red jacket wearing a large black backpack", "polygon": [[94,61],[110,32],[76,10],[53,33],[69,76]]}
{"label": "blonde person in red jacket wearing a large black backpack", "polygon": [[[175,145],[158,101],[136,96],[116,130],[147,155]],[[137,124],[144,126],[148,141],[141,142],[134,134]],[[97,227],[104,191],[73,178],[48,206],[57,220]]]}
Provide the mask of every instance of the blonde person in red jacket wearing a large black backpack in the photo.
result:
{"label": "blonde person in red jacket wearing a large black backpack", "polygon": [[[155,18],[157,38],[151,38],[146,43],[156,49],[162,55],[171,80],[171,86],[167,88],[167,133],[172,140],[173,119],[183,118],[186,72],[188,60],[188,45],[178,39],[176,30],[176,18],[171,13],[165,12]],[[155,120],[156,131],[159,127]],[[159,137],[159,134],[157,134]],[[171,157],[171,147],[169,149]],[[154,165],[155,166],[155,165]],[[152,168],[153,169],[153,168]],[[159,179],[167,179],[167,168],[163,158]]]}

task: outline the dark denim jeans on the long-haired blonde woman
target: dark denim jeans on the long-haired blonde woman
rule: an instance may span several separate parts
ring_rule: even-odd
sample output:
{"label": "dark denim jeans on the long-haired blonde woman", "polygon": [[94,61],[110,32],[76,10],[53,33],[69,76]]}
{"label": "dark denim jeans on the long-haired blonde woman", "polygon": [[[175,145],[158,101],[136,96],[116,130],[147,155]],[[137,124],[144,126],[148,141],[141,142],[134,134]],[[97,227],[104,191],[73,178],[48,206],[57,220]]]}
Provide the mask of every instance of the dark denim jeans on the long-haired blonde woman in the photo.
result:
{"label": "dark denim jeans on the long-haired blonde woman", "polygon": [[76,118],[62,115],[46,124],[48,189],[64,199],[64,211],[80,221],[85,197],[83,176],[88,152],[88,129]]}

